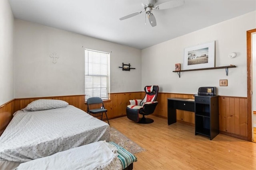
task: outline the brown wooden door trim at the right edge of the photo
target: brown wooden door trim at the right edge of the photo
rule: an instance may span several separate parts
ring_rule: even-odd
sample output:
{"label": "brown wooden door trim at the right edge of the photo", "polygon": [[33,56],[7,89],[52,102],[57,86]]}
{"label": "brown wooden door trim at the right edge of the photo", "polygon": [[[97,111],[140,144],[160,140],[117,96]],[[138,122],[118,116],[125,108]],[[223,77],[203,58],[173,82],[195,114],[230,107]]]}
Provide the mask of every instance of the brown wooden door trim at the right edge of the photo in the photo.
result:
{"label": "brown wooden door trim at the right edge of the photo", "polygon": [[247,39],[247,123],[248,123],[248,141],[252,142],[252,33],[255,33],[256,29],[246,31]]}

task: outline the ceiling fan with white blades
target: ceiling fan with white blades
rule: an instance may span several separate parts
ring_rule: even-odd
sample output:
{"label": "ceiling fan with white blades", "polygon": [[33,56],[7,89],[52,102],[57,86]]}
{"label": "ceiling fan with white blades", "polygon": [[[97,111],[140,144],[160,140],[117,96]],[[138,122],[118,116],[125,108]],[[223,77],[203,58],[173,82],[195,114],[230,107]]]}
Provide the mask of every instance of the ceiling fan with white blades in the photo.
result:
{"label": "ceiling fan with white blades", "polygon": [[[174,1],[164,2],[164,3],[158,4],[156,6],[155,6],[155,4],[156,4],[155,0],[148,0],[148,4],[142,4],[142,6],[144,8],[143,11],[138,11],[138,12],[134,12],[132,14],[128,14],[122,18],[119,18],[119,20],[125,20],[127,18],[131,18],[133,16],[141,14],[142,12],[145,12],[145,18],[146,18],[146,15],[148,15],[148,21],[149,21],[150,25],[152,27],[154,27],[154,26],[156,26],[156,18],[154,16],[154,14],[152,13],[152,10],[164,10],[164,9],[181,6],[182,4],[184,4],[184,0],[174,0]],[[145,21],[145,24],[146,24],[146,21]]]}

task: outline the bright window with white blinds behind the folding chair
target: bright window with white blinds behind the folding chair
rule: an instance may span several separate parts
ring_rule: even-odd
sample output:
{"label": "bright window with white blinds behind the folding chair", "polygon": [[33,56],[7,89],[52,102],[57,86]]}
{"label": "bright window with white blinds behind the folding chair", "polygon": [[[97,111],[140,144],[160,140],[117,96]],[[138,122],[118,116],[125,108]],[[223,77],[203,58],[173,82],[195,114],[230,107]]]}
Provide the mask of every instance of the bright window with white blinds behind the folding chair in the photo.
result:
{"label": "bright window with white blinds behind the folding chair", "polygon": [[85,49],[85,100],[108,99],[110,53]]}

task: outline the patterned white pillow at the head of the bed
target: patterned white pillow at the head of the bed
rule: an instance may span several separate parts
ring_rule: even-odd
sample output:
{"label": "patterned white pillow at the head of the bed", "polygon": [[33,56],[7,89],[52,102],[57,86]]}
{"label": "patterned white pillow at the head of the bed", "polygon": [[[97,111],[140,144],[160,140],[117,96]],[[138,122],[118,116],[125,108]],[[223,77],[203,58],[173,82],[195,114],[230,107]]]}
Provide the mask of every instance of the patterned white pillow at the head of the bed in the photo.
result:
{"label": "patterned white pillow at the head of the bed", "polygon": [[22,109],[23,111],[38,111],[38,110],[49,110],[57,109],[60,107],[66,107],[68,103],[63,100],[52,100],[52,99],[39,99],[28,104],[27,107]]}

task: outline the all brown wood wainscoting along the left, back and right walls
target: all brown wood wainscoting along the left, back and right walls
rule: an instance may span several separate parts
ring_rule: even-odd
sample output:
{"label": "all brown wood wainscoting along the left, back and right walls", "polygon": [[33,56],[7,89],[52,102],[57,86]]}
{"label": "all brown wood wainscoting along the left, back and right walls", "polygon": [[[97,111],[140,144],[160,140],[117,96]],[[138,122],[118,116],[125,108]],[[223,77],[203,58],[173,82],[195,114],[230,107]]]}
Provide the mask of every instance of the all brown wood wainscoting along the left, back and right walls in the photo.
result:
{"label": "all brown wood wainscoting along the left, back and right walls", "polygon": [[[111,93],[110,100],[104,101],[108,109],[108,119],[126,116],[126,106],[130,104],[129,100],[144,98],[145,92],[124,92]],[[192,98],[193,94],[173,94],[158,93],[158,105],[153,115],[167,119],[167,98]],[[6,128],[6,125],[12,119],[12,114],[22,108],[25,108],[30,102],[37,99],[57,99],[64,100],[70,105],[87,111],[87,105],[84,102],[85,95],[74,96],[54,96],[42,98],[20,98],[12,100],[0,107],[0,133]],[[106,119],[105,115],[103,117]],[[177,110],[176,119],[178,122],[194,125],[194,112]],[[248,140],[248,117],[247,117],[247,98],[219,96],[219,124],[220,133],[233,136],[239,139]],[[166,120],[167,124],[167,120]]]}

